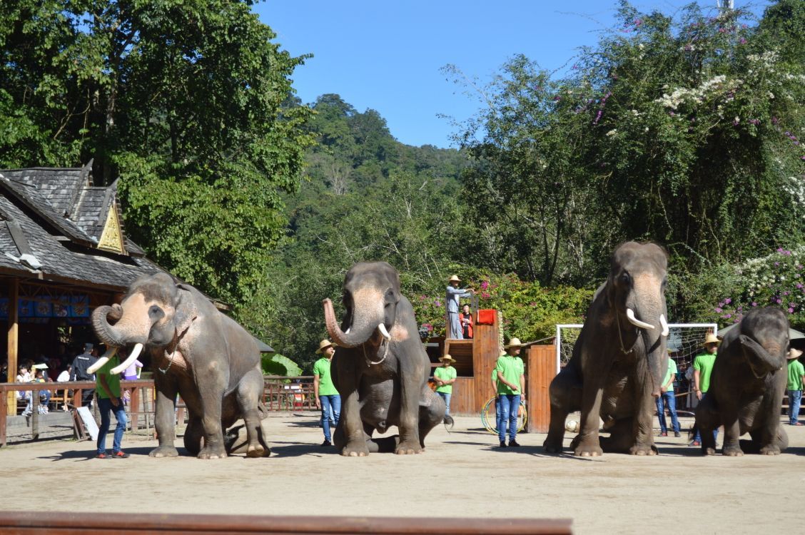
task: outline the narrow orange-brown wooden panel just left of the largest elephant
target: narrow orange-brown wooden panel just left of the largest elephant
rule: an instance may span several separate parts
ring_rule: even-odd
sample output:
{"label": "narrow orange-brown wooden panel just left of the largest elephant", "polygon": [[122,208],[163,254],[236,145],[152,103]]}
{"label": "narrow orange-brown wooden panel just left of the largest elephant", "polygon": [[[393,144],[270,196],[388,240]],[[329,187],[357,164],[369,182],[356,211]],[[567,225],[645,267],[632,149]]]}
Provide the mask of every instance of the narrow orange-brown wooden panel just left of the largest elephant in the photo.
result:
{"label": "narrow orange-brown wooden panel just left of the largest elephant", "polygon": [[526,409],[529,433],[547,433],[551,424],[551,397],[548,389],[556,375],[554,345],[532,345],[526,354]]}

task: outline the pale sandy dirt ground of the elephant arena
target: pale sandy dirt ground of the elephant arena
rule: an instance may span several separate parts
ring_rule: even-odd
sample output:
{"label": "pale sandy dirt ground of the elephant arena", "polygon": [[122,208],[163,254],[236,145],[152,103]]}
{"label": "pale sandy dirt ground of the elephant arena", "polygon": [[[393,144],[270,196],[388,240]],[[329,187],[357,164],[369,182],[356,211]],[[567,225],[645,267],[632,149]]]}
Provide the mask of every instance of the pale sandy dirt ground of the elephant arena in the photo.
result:
{"label": "pale sandy dirt ground of the elephant arena", "polygon": [[[151,459],[155,440],[131,433],[131,457],[119,460],[92,459],[89,441],[17,444],[0,450],[0,510],[539,517],[572,518],[575,533],[783,533],[799,531],[805,507],[805,426],[784,426],[791,447],[774,457],[703,457],[683,433],[657,438],[658,456],[580,459],[544,455],[544,434],[499,449],[480,418],[437,427],[423,455],[343,458],[319,446],[316,424],[313,413],[270,417],[268,459]],[[118,496],[101,490],[115,478]]]}

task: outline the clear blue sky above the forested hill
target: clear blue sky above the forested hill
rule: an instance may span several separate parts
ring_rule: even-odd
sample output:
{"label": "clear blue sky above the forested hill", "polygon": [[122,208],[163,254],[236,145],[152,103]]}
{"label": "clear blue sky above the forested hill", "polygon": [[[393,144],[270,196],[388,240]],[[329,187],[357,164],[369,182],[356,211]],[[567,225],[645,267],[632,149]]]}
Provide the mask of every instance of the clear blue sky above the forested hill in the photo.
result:
{"label": "clear blue sky above the forested hill", "polygon": [[[688,3],[632,2],[664,13]],[[716,6],[716,0],[698,3]],[[754,0],[753,10],[769,3]],[[519,53],[543,68],[562,68],[578,47],[596,43],[613,25],[616,9],[615,0],[266,0],[254,6],[284,50],[313,54],[293,76],[303,102],[337,93],[360,112],[377,110],[398,141],[440,147],[452,146],[456,132],[440,115],[464,121],[481,106],[440,68],[454,64],[481,83]]]}

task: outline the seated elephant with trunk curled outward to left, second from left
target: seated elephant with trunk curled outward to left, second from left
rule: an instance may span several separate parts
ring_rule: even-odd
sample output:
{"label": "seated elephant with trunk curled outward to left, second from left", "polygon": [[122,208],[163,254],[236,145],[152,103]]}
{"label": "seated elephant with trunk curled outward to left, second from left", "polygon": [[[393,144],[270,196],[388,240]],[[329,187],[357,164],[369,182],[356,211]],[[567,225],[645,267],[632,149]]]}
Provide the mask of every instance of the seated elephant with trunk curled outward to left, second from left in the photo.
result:
{"label": "seated elephant with trunk curled outward to left, second from left", "polygon": [[[425,436],[444,419],[444,401],[427,387],[431,362],[419,340],[411,302],[387,262],[360,262],[344,278],[345,313],[336,323],[324,299],[327,331],[337,345],[332,377],[341,393],[333,442],[341,455],[422,453]],[[372,439],[398,426],[398,438]]]}

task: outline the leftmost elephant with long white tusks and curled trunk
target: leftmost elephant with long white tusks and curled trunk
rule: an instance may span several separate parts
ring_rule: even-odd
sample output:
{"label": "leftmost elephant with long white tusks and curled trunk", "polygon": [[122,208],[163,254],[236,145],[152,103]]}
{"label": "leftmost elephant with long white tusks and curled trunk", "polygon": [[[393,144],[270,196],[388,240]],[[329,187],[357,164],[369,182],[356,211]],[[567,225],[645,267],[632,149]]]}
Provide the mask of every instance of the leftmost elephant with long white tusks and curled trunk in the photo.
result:
{"label": "leftmost elephant with long white tusks and curled trunk", "polygon": [[132,349],[113,373],[125,370],[143,348],[151,355],[159,447],[149,455],[179,455],[174,447],[177,393],[188,408],[184,447],[192,455],[226,457],[234,441],[225,442],[223,430],[239,418],[246,426],[246,455],[270,455],[257,341],[196,288],[164,273],[143,275],[131,283],[120,304],[97,307],[92,322],[109,348],[94,368],[119,348]]}

